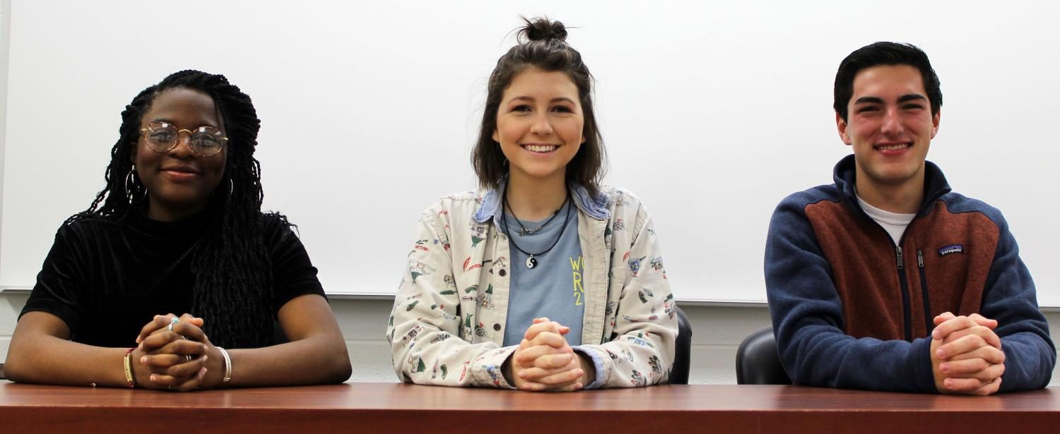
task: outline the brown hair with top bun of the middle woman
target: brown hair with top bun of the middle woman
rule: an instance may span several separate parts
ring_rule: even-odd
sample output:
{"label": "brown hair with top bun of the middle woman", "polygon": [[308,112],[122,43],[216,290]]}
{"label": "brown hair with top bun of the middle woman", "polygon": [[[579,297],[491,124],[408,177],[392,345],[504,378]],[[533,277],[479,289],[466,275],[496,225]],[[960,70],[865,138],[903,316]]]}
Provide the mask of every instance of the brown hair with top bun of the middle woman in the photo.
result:
{"label": "brown hair with top bun of the middle woman", "polygon": [[605,168],[603,138],[597,128],[593,109],[593,75],[582,62],[581,53],[567,44],[567,29],[562,22],[548,18],[523,20],[526,24],[518,30],[518,43],[497,59],[497,67],[490,74],[482,125],[471,159],[478,183],[485,188],[497,188],[500,180],[508,174],[505,155],[500,151],[499,144],[493,140],[500,100],[516,75],[527,69],[537,68],[563,72],[578,87],[578,98],[584,115],[582,132],[585,143],[567,164],[567,183],[580,184],[596,195],[600,191],[600,180]]}

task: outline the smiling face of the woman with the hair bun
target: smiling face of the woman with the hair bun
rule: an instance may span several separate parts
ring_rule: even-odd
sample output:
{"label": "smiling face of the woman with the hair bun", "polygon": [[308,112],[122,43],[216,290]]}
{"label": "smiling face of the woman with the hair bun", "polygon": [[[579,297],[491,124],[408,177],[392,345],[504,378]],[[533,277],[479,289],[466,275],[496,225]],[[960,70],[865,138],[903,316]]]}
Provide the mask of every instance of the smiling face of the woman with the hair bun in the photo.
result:
{"label": "smiling face of the woman with the hair bun", "polygon": [[511,179],[566,176],[585,137],[578,86],[564,72],[530,68],[512,78],[497,110],[493,140],[509,161]]}

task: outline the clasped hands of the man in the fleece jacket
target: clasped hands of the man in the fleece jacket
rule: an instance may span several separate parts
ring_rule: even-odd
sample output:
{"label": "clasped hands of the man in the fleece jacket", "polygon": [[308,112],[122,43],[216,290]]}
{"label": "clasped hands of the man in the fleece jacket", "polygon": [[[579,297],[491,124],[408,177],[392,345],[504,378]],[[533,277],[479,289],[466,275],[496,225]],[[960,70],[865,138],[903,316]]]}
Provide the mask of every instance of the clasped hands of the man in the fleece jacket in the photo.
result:
{"label": "clasped hands of the man in the fleece jacket", "polygon": [[1001,387],[1005,352],[994,333],[996,320],[972,313],[935,317],[931,364],[935,387],[944,394],[990,395]]}

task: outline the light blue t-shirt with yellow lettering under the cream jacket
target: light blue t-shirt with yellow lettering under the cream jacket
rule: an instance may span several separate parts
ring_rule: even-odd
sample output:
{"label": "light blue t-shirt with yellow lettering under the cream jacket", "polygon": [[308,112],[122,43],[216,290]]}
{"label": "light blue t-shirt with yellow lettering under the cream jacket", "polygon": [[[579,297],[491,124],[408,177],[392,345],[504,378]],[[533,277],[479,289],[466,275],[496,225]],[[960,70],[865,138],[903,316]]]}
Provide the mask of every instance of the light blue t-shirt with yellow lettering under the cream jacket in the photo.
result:
{"label": "light blue t-shirt with yellow lettering under the cream jacket", "polygon": [[[505,346],[518,345],[527,328],[533,324],[533,319],[541,317],[548,317],[549,320],[570,327],[570,332],[566,334],[567,343],[570,346],[581,345],[585,291],[582,287],[582,246],[578,240],[578,207],[568,200],[552,221],[540,232],[527,235],[520,233],[522,227],[515,221],[515,217],[508,214],[507,219],[511,224],[508,243],[512,255],[512,276]],[[546,220],[519,221],[527,229],[536,229]],[[534,255],[537,265],[528,269],[526,261],[529,255],[519,249],[537,253],[552,246],[556,237],[560,240],[555,247],[544,254]],[[515,248],[516,243],[519,249]]]}

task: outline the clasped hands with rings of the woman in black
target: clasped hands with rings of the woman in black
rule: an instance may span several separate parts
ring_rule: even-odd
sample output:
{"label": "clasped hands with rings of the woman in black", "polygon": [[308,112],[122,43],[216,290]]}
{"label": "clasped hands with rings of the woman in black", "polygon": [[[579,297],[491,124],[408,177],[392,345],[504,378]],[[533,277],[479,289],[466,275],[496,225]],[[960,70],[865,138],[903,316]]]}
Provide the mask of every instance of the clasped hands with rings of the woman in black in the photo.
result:
{"label": "clasped hands with rings of the woman in black", "polygon": [[219,385],[224,358],[202,332],[202,319],[184,313],[171,329],[173,319],[155,315],[140,330],[130,360],[137,386],[188,392]]}

